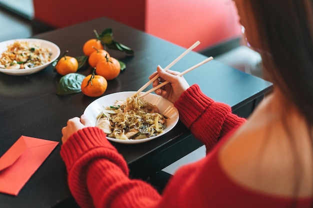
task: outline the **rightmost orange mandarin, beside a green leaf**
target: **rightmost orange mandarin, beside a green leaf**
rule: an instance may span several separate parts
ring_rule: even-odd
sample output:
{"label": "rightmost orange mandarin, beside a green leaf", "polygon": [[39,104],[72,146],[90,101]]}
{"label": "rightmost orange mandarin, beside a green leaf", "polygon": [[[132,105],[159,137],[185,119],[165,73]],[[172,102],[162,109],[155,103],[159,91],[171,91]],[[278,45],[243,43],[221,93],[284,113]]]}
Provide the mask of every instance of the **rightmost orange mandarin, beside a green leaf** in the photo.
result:
{"label": "rightmost orange mandarin, beside a green leaf", "polygon": [[115,58],[106,55],[104,59],[97,62],[95,73],[103,76],[106,80],[112,80],[120,73],[120,64]]}

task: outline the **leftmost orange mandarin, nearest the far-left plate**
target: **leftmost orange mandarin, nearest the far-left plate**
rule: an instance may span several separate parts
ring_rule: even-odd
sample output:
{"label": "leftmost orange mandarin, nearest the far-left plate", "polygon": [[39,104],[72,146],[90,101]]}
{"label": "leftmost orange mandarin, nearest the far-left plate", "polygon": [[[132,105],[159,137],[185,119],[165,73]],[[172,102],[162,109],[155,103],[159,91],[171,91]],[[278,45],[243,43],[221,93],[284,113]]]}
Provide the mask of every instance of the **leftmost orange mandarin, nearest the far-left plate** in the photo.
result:
{"label": "leftmost orange mandarin, nearest the far-left plate", "polygon": [[57,61],[55,65],[55,70],[60,75],[66,75],[69,73],[75,73],[78,70],[78,61],[75,57],[66,55],[68,50],[64,55]]}

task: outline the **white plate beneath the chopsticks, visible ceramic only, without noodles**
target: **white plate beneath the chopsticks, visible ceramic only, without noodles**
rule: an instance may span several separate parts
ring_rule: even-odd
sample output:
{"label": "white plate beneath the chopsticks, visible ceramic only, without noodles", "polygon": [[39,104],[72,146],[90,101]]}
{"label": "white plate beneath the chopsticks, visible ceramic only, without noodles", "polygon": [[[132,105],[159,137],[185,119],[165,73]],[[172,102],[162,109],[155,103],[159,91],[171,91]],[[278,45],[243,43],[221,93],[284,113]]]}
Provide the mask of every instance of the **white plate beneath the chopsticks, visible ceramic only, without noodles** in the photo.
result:
{"label": "white plate beneath the chopsticks, visible ceramic only, without noodles", "polygon": [[[112,93],[112,94],[108,94],[103,97],[100,97],[94,100],[92,103],[90,103],[84,110],[83,114],[91,121],[92,125],[95,125],[96,117],[103,110],[103,108],[105,108],[106,106],[114,105],[116,103],[116,100],[124,101],[126,100],[126,98],[132,96],[134,93],[135,92],[131,92],[131,91],[116,92],[116,93]],[[162,113],[164,116],[168,118],[166,120],[167,125],[164,131],[155,137],[150,137],[146,139],[120,140],[120,139],[107,137],[108,140],[113,141],[113,142],[123,143],[123,144],[137,144],[137,143],[147,142],[163,134],[166,134],[177,124],[178,119],[179,119],[178,110],[174,107],[174,105],[170,101],[156,94],[148,94],[144,96],[144,99],[148,101],[149,103],[156,105],[160,113]]]}

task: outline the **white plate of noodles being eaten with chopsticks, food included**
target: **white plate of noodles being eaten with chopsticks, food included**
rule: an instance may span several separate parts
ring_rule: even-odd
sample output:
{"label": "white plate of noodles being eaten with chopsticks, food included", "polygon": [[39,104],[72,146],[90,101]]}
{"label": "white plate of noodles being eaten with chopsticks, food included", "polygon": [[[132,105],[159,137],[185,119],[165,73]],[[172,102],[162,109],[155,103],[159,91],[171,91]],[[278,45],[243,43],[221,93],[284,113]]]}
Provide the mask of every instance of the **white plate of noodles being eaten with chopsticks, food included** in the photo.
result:
{"label": "white plate of noodles being eaten with chopsticks, food included", "polygon": [[178,122],[174,105],[156,94],[143,98],[135,92],[117,92],[90,103],[84,115],[102,129],[110,141],[136,144],[155,139]]}

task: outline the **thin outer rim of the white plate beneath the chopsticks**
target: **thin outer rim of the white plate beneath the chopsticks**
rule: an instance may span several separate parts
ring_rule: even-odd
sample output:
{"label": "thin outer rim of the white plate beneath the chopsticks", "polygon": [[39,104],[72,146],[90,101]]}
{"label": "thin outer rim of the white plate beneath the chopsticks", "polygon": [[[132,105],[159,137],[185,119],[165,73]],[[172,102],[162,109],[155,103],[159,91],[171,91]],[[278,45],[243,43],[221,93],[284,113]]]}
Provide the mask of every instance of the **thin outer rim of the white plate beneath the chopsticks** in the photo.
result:
{"label": "thin outer rim of the white plate beneath the chopsticks", "polygon": [[[109,95],[112,96],[112,95],[114,95],[114,94],[119,94],[119,93],[131,93],[131,94],[133,94],[133,93],[135,93],[135,91],[120,91],[120,92],[113,92],[113,93],[109,93],[109,94],[103,95],[103,96],[101,96],[101,97],[99,97],[99,98],[93,100],[91,103],[89,103],[89,104],[87,105],[87,107],[84,109],[83,114],[86,113],[87,108],[90,108],[91,105],[93,105],[94,103],[98,102],[100,99],[103,99],[105,96],[109,96]],[[153,94],[153,93],[149,93],[148,95],[150,95],[150,96],[151,96],[151,95],[152,95],[152,96],[156,96],[156,97],[159,97],[159,98],[161,98],[161,99],[167,100],[166,98],[163,98],[163,97],[161,97],[161,96],[159,96],[159,95],[156,95],[156,94]],[[167,100],[167,101],[170,102],[169,100]],[[170,102],[170,103],[171,103],[171,105],[172,105],[172,108],[175,110],[177,116],[175,117],[176,119],[175,119],[175,121],[173,122],[173,125],[171,126],[171,128],[170,128],[167,132],[161,133],[161,134],[159,134],[159,135],[157,135],[157,136],[154,136],[154,137],[150,137],[150,138],[146,138],[146,139],[139,139],[139,140],[119,140],[119,139],[110,138],[110,137],[107,137],[107,136],[106,136],[106,138],[107,138],[109,141],[113,141],[113,142],[120,143],[120,144],[139,144],[139,143],[144,143],[144,142],[151,141],[151,140],[153,140],[153,139],[156,139],[156,138],[158,138],[158,137],[160,137],[160,136],[162,136],[162,135],[168,133],[170,130],[172,130],[172,129],[177,125],[178,120],[179,120],[178,109],[174,106],[174,104],[173,104],[172,102]]]}

